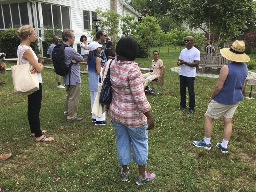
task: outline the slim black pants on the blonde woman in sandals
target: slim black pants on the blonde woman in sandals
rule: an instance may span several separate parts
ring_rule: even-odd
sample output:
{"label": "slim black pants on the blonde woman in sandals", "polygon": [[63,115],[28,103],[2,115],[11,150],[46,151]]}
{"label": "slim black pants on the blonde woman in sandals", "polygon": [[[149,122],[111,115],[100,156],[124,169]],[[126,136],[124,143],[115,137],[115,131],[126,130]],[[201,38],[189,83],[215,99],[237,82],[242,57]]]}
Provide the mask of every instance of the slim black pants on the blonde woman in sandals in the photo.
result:
{"label": "slim black pants on the blonde woman in sandals", "polygon": [[28,95],[28,122],[30,126],[30,132],[35,133],[35,137],[41,137],[43,135],[40,129],[39,120],[42,93],[42,84],[39,83],[39,90],[33,92],[31,95]]}

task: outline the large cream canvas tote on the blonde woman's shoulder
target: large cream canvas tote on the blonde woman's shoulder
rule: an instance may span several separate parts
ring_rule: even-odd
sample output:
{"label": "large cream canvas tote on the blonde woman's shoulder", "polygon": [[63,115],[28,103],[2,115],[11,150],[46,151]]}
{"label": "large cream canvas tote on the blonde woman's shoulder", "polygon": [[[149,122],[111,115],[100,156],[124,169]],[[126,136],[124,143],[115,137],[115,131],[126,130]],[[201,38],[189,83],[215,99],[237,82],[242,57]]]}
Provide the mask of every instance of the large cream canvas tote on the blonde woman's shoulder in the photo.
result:
{"label": "large cream canvas tote on the blonde woman's shoulder", "polygon": [[13,88],[15,93],[30,95],[33,92],[39,90],[38,72],[36,72],[35,74],[30,73],[30,70],[33,68],[33,66],[29,63],[29,61],[28,63],[22,65],[20,58],[20,49],[17,65],[11,66]]}

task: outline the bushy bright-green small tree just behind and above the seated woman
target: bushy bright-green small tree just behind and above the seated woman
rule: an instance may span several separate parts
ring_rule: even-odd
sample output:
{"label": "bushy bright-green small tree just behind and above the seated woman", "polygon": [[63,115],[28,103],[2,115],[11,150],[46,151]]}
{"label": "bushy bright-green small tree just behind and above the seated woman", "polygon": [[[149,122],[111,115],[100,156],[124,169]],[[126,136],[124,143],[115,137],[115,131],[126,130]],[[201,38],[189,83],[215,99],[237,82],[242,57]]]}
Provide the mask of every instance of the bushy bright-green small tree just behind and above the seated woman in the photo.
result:
{"label": "bushy bright-green small tree just behind and above the seated woman", "polygon": [[158,20],[153,16],[142,17],[142,21],[138,24],[137,30],[132,36],[143,52],[149,58],[152,46],[158,43],[158,35],[161,30]]}

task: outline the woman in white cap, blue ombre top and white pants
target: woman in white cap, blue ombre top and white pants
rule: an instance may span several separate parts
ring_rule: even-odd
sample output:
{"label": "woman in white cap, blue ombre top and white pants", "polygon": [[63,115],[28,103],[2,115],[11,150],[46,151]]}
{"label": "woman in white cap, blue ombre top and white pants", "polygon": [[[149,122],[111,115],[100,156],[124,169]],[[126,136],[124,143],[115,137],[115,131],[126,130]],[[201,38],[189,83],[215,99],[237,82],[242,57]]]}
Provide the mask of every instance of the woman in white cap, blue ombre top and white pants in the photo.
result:
{"label": "woman in white cap, blue ombre top and white pants", "polygon": [[[87,66],[89,73],[89,90],[91,95],[91,107],[93,106],[94,100],[98,92],[98,84],[100,84],[100,72],[103,68],[103,65],[100,62],[100,47],[102,44],[97,42],[92,42],[89,44],[88,48],[90,50],[87,58]],[[102,114],[102,117],[97,117],[92,114],[92,122],[95,122],[95,125],[106,125],[106,112]]]}

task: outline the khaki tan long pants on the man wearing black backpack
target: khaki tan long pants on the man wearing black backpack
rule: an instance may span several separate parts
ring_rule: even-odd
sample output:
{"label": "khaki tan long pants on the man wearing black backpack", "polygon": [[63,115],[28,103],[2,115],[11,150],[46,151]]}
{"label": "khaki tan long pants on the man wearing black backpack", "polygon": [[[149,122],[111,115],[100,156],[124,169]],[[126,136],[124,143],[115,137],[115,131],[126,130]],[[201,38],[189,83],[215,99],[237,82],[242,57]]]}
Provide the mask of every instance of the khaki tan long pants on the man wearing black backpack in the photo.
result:
{"label": "khaki tan long pants on the man wearing black backpack", "polygon": [[81,94],[81,83],[76,85],[66,85],[65,113],[67,120],[73,120],[77,115],[78,104]]}

